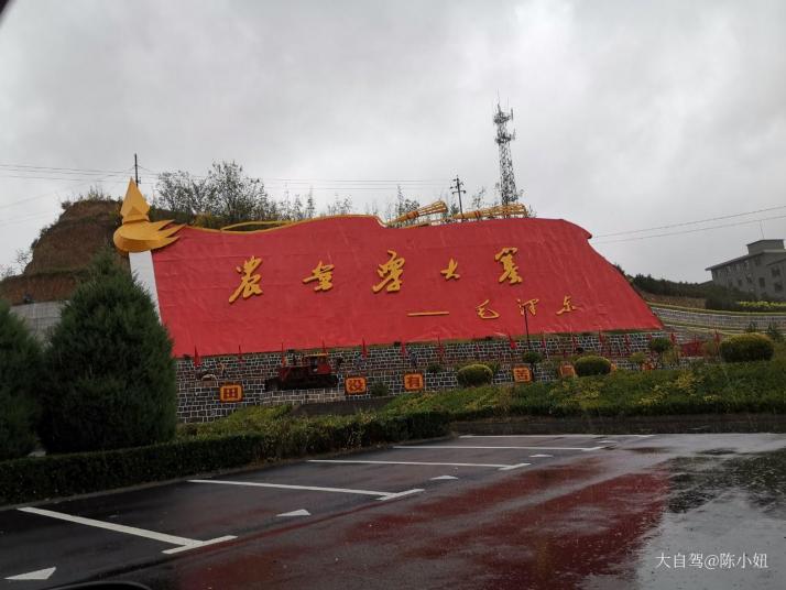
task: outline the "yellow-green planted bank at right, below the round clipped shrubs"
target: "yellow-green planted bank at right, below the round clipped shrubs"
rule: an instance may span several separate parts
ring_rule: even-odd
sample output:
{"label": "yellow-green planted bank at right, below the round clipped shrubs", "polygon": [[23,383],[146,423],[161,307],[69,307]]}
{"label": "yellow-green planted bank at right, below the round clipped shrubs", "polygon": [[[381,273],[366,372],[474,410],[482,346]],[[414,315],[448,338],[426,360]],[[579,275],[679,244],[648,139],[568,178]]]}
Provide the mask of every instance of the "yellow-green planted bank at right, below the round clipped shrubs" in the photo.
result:
{"label": "yellow-green planted bank at right, below the round clipped shrubs", "polygon": [[444,412],[454,420],[526,416],[786,413],[786,360],[702,364],[609,375],[408,394],[383,412]]}

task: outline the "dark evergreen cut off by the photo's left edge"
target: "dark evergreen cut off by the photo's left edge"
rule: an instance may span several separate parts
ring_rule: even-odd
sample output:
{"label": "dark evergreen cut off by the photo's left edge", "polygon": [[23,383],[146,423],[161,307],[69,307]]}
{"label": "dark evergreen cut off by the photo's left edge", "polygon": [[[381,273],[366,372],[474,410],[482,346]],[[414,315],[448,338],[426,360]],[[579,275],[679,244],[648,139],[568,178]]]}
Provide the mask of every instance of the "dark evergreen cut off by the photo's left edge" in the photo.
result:
{"label": "dark evergreen cut off by the photo's left edge", "polygon": [[0,301],[0,461],[35,447],[35,380],[41,349],[26,326]]}

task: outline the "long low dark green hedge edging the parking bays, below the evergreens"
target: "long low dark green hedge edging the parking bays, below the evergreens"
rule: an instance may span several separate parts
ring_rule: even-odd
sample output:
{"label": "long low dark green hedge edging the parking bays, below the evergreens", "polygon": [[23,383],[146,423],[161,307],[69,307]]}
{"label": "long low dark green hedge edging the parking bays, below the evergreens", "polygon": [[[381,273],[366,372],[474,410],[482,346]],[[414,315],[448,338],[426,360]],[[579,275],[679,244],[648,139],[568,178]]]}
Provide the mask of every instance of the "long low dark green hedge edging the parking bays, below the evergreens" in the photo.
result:
{"label": "long low dark green hedge edging the parking bays, below the evergreens", "polygon": [[280,419],[265,431],[194,436],[149,447],[0,462],[0,505],[111,490],[305,455],[444,436],[448,416]]}

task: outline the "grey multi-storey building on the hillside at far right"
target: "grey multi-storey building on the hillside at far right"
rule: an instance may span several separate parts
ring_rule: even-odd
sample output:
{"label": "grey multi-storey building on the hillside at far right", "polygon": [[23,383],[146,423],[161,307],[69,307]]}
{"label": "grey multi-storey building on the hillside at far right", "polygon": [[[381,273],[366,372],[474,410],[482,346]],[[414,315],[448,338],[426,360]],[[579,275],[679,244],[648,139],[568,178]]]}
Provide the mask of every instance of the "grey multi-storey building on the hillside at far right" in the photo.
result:
{"label": "grey multi-storey building on the hillside at far right", "polygon": [[757,240],[747,244],[747,254],[706,269],[712,282],[735,287],[761,299],[784,299],[786,250],[783,240]]}

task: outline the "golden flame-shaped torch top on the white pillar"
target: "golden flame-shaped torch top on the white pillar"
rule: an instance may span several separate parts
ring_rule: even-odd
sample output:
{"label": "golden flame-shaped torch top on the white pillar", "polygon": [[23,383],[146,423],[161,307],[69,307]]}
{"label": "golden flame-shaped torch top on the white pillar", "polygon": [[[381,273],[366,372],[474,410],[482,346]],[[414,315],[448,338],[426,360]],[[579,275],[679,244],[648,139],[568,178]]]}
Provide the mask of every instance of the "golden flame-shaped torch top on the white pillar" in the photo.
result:
{"label": "golden flame-shaped torch top on the white pillar", "polygon": [[[170,245],[177,240],[182,225],[170,226],[172,220],[151,221],[150,205],[140,193],[137,183],[129,181],[120,215],[123,223],[113,236],[114,245],[123,252],[146,252]],[[168,227],[167,227],[168,226]]]}

